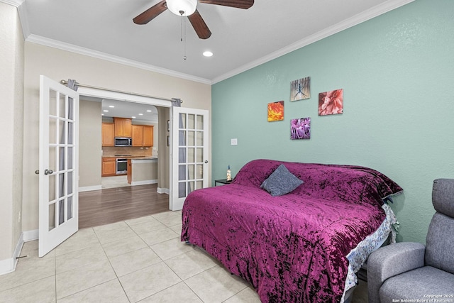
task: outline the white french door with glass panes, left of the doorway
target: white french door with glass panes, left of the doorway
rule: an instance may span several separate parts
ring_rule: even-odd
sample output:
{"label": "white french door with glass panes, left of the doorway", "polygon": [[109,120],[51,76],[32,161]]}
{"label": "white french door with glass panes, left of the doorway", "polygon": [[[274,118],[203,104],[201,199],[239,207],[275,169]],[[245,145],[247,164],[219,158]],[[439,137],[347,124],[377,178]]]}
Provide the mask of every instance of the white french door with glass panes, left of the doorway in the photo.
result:
{"label": "white french door with glass panes, left of the doorway", "polygon": [[43,257],[79,228],[79,94],[40,76],[39,244]]}

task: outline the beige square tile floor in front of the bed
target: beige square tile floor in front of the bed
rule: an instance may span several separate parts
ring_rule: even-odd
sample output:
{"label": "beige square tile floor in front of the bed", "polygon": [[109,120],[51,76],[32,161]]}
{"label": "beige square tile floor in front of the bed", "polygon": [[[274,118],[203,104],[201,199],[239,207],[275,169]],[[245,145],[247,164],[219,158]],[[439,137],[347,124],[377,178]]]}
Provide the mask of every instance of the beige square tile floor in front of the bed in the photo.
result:
{"label": "beige square tile floor in front of the bed", "polygon": [[168,211],[81,229],[43,258],[27,242],[28,257],[0,276],[0,302],[260,302],[180,231],[181,211]]}

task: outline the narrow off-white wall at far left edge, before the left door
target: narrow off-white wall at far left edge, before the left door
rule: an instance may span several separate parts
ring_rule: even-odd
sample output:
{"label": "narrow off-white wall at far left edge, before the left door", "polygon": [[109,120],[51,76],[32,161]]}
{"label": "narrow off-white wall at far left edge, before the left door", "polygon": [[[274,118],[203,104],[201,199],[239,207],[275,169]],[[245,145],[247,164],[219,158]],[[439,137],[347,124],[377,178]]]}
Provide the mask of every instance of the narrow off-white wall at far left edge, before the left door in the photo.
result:
{"label": "narrow off-white wall at far left edge, before the left door", "polygon": [[1,145],[0,273],[15,261],[11,257],[22,232],[23,48],[17,9],[0,2],[0,129],[7,142]]}

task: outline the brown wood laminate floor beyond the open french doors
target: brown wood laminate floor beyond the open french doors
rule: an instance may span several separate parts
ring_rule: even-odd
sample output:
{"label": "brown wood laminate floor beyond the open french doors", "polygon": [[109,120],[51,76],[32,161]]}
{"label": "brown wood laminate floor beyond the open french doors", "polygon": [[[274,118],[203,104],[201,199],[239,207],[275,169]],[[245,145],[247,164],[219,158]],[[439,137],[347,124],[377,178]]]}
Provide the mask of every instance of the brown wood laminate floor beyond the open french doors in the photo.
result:
{"label": "brown wood laminate floor beyond the open french doors", "polygon": [[79,228],[101,226],[169,210],[169,195],[157,184],[79,192]]}

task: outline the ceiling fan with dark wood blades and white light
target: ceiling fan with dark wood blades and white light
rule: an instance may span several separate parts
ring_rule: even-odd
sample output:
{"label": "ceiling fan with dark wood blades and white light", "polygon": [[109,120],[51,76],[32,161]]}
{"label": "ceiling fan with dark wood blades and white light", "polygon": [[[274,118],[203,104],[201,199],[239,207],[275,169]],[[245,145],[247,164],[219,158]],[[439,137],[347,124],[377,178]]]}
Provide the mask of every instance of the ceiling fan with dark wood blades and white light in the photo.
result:
{"label": "ceiling fan with dark wood blades and white light", "polygon": [[[199,3],[249,9],[250,6],[253,6],[254,0],[199,0]],[[155,6],[150,7],[150,9],[133,18],[133,21],[135,24],[147,24],[159,16],[160,13],[169,9],[175,15],[187,16],[199,38],[208,39],[211,36],[211,31],[206,26],[204,19],[201,18],[196,6],[197,0],[162,0],[160,3],[155,4]]]}

